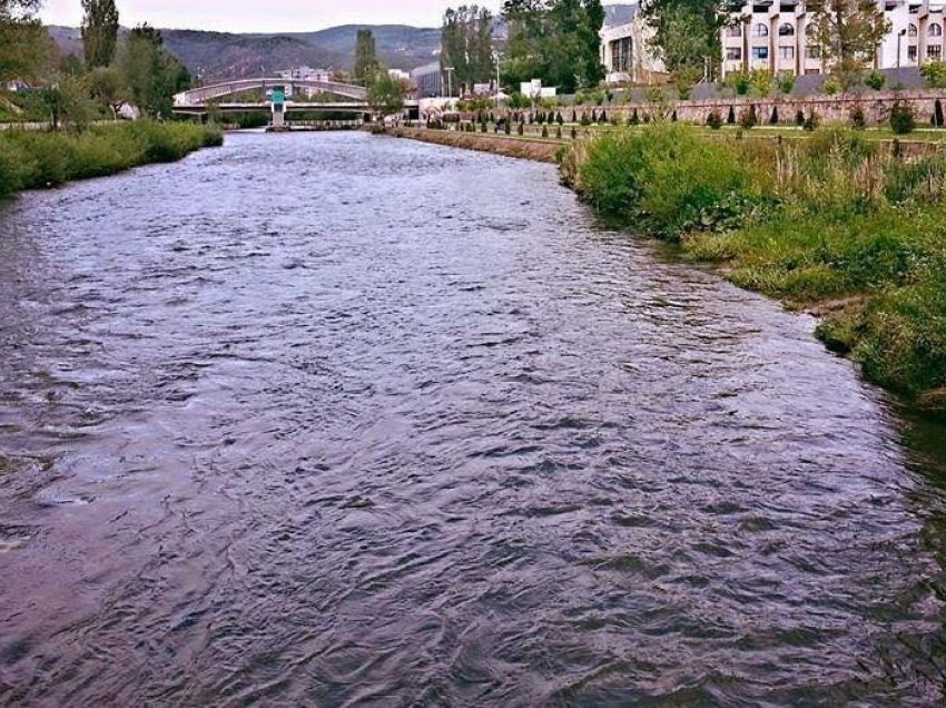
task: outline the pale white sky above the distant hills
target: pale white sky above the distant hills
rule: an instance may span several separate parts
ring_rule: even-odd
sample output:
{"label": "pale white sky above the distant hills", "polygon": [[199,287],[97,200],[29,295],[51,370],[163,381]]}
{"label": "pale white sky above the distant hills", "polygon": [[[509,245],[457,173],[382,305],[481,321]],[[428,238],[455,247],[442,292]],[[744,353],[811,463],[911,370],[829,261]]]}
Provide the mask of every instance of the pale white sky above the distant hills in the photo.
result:
{"label": "pale white sky above the distant hills", "polygon": [[[447,7],[466,0],[117,0],[121,24],[218,32],[307,32],[336,24],[440,27]],[[500,0],[480,2],[493,12]],[[78,27],[79,0],[45,0],[47,24]]]}

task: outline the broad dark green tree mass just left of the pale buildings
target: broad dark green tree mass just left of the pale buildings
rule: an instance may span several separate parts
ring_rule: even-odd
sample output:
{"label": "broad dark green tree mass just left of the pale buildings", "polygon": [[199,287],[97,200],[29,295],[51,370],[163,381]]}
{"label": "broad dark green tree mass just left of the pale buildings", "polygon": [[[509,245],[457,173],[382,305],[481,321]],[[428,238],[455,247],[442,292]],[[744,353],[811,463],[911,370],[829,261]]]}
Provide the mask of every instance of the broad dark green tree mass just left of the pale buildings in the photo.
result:
{"label": "broad dark green tree mass just left of the pale buildings", "polygon": [[505,81],[541,79],[564,94],[604,78],[599,35],[600,0],[506,0],[509,22]]}

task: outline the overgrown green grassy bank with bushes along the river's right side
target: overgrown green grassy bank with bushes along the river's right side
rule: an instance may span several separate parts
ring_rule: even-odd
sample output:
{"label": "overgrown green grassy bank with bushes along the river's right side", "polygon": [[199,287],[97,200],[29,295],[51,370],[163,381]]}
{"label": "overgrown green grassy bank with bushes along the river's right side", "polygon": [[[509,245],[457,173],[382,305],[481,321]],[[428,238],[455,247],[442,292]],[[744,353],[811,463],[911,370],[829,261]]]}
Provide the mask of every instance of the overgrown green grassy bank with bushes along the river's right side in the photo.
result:
{"label": "overgrown green grassy bank with bushes along the river's right side", "polygon": [[819,336],[869,380],[946,412],[946,157],[661,125],[579,141],[562,175],[601,214],[822,314]]}

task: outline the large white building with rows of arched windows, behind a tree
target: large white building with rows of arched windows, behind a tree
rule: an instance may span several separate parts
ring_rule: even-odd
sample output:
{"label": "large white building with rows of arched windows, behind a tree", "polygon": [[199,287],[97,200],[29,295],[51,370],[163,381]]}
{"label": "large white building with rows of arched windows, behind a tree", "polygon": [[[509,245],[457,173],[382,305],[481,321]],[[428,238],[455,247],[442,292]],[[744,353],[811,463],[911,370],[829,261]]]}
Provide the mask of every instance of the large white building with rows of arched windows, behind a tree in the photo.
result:
{"label": "large white building with rows of arched windows, behind a tree", "polygon": [[[943,58],[944,4],[928,0],[878,0],[890,31],[877,48],[873,68],[918,67]],[[798,0],[746,4],[722,30],[722,73],[765,69],[773,76],[822,73],[818,50],[808,43],[810,27]]]}

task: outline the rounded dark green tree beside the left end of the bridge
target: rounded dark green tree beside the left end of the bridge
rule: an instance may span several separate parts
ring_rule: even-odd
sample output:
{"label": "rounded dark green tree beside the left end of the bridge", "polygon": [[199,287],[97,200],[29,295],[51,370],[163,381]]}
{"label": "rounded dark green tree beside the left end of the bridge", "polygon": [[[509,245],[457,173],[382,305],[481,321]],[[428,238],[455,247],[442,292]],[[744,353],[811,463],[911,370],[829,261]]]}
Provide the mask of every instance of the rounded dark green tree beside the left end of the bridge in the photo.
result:
{"label": "rounded dark green tree beside the left end of the bridge", "polygon": [[131,30],[120,65],[132,102],[154,118],[169,117],[174,95],[190,87],[190,73],[165,50],[161,33],[148,24]]}

